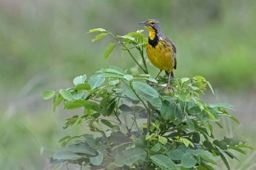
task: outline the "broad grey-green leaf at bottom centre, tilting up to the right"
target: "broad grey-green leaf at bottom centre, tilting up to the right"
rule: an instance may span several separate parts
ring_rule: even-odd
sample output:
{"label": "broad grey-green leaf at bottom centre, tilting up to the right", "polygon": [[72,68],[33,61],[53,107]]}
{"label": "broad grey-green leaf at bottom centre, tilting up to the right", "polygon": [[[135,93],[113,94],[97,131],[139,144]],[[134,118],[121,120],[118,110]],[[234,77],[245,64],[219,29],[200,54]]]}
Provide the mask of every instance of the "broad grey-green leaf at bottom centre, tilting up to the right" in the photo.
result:
{"label": "broad grey-green leaf at bottom centre, tilting up to the right", "polygon": [[142,148],[129,148],[123,150],[121,155],[117,155],[114,163],[117,167],[122,167],[123,165],[133,165],[139,160],[146,160],[146,151]]}

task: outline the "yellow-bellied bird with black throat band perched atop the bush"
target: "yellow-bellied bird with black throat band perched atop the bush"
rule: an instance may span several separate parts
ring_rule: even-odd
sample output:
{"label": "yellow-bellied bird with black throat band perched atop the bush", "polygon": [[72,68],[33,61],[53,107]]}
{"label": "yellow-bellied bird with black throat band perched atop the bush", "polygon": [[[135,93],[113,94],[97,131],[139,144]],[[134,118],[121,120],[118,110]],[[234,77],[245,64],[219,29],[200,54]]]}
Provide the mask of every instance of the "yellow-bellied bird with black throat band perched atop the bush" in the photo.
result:
{"label": "yellow-bellied bird with black throat band perched atop the bush", "polygon": [[[176,48],[173,42],[161,32],[160,23],[157,20],[150,19],[146,22],[140,22],[149,31],[146,53],[151,63],[168,75],[167,88],[170,86],[173,69],[177,67]],[[158,75],[160,75],[158,73]],[[158,77],[156,76],[156,78]]]}

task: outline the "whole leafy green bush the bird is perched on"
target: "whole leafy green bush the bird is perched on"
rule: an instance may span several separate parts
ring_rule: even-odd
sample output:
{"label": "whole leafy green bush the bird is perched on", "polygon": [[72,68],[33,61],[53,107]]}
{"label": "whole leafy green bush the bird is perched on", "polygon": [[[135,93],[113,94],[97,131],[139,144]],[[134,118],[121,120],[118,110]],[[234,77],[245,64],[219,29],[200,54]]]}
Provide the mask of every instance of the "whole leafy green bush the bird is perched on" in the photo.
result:
{"label": "whole leafy green bush the bird is perched on", "polygon": [[[200,98],[211,84],[203,76],[173,78],[166,90],[167,77],[155,80],[148,74],[144,58],[145,39],[142,31],[115,36],[106,29],[93,41],[112,36],[116,43],[108,46],[108,58],[117,44],[127,51],[143,74],[130,75],[115,66],[74,78],[74,87],[43,92],[43,98],[54,96],[54,110],[83,109],[81,114],[66,118],[64,128],[86,123],[94,135],[84,134],[60,139],[62,150],[53,156],[61,161],[89,165],[94,169],[214,169],[219,157],[230,169],[225,156],[236,158],[230,150],[245,153],[243,141],[214,137],[213,124],[221,124],[232,105],[205,103]],[[131,49],[137,49],[139,64]],[[214,92],[213,92],[214,93]],[[146,120],[146,121],[145,121]]]}

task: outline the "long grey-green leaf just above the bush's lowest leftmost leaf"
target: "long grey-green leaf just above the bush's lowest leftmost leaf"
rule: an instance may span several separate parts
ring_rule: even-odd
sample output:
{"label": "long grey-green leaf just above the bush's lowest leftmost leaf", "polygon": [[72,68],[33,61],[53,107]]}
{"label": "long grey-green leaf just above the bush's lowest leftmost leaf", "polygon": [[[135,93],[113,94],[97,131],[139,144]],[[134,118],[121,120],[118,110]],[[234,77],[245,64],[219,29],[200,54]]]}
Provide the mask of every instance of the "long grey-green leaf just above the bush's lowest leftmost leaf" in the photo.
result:
{"label": "long grey-green leaf just above the bush's lowest leftmost leaf", "polygon": [[87,143],[71,144],[68,147],[64,148],[64,150],[68,150],[74,153],[89,154],[91,156],[96,155],[95,148],[92,148]]}

